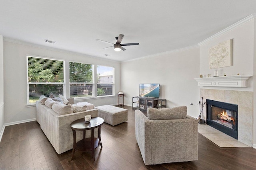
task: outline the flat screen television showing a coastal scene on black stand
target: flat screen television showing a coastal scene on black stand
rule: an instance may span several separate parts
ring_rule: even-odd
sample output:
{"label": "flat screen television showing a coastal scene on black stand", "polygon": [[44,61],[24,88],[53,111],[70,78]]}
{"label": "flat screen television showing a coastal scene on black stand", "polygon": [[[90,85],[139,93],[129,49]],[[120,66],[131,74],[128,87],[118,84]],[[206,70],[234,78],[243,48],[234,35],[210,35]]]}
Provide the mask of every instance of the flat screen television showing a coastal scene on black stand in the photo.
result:
{"label": "flat screen television showing a coastal scene on black stand", "polygon": [[159,98],[160,84],[140,84],[140,96]]}

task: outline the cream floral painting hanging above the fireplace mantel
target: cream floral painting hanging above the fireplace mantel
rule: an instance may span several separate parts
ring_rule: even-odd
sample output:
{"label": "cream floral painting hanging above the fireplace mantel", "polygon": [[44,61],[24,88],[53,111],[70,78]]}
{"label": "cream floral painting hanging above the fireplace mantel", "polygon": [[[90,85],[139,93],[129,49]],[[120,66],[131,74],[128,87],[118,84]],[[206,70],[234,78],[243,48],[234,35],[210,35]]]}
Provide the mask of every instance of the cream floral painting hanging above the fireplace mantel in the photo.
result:
{"label": "cream floral painting hanging above the fireplace mantel", "polygon": [[232,39],[209,48],[210,69],[232,66]]}

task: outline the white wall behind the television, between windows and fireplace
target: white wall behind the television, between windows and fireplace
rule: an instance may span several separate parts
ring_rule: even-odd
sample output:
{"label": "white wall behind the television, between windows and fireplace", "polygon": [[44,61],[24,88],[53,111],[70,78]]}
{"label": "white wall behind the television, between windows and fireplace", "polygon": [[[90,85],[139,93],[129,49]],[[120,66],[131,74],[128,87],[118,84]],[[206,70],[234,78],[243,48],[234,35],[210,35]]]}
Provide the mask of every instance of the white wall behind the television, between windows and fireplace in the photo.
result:
{"label": "white wall behind the television, between windows and fireplace", "polygon": [[198,117],[196,104],[200,90],[194,78],[199,77],[199,70],[198,47],[121,63],[124,104],[132,106],[132,97],[139,95],[140,83],[159,83],[160,98],[166,99],[167,107],[184,105],[188,107],[188,115]]}

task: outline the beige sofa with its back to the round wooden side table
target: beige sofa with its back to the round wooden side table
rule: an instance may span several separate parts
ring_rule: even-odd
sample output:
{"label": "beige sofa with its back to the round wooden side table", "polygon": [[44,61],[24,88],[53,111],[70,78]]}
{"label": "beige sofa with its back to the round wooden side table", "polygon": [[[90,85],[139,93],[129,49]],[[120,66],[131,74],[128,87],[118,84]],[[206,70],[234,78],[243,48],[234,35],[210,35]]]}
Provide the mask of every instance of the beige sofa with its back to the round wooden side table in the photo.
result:
{"label": "beige sofa with its back to the round wooden side table", "polygon": [[[55,106],[61,105],[60,102],[54,103]],[[74,104],[74,98],[68,98],[68,103]],[[40,101],[36,102],[36,121],[38,121],[42,131],[58,154],[73,148],[73,133],[70,128],[70,123],[72,123],[72,121],[84,118],[85,115],[98,117],[97,109],[90,109],[77,113],[71,112],[68,114],[58,114],[48,106]],[[70,106],[66,107],[68,107],[66,110],[70,111]],[[58,109],[58,111],[60,110],[63,109]],[[86,137],[90,137],[90,134],[90,131],[86,131]],[[98,137],[97,129],[95,130],[94,137]],[[76,140],[80,141],[81,139],[83,139],[82,131],[76,131]]]}

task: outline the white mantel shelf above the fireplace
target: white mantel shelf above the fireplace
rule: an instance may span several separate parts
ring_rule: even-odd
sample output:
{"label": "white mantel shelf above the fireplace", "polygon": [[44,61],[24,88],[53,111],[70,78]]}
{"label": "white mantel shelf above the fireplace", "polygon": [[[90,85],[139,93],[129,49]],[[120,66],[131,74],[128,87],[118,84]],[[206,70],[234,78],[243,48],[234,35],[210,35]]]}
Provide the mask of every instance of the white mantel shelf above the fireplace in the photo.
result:
{"label": "white mantel shelf above the fireplace", "polygon": [[211,87],[248,87],[247,80],[252,75],[217,76],[206,78],[194,78],[198,86]]}

